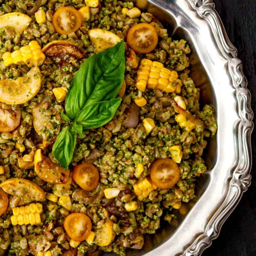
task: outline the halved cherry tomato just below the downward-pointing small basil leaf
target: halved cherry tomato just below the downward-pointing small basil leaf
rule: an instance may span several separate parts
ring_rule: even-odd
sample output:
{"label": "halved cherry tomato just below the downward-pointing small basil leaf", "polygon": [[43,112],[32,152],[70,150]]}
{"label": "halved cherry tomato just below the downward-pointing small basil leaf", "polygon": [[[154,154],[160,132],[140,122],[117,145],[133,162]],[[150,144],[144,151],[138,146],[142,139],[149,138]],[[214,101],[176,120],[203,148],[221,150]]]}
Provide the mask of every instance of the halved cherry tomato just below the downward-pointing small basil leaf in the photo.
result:
{"label": "halved cherry tomato just below the downward-pointing small basil leaf", "polygon": [[91,191],[98,185],[99,172],[93,164],[81,163],[74,168],[72,178],[82,189]]}

